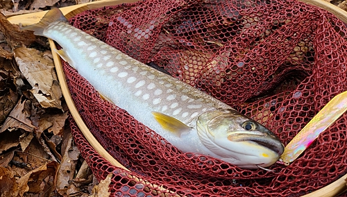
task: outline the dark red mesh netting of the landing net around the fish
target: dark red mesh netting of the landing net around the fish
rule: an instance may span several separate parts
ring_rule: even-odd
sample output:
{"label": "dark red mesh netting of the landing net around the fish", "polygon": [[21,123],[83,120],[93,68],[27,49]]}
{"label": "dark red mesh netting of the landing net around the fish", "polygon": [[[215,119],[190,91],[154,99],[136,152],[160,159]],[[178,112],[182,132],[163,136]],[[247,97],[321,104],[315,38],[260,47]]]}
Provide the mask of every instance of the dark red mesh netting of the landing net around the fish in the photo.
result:
{"label": "dark red mesh netting of the landing net around the fish", "polygon": [[[70,22],[237,108],[285,145],[347,90],[346,24],[298,1],[142,1],[88,10]],[[182,196],[300,196],[346,173],[346,113],[289,166],[245,170],[182,153],[101,99],[74,69],[64,69],[88,128],[131,171],[103,160],[71,119],[75,141],[97,178],[114,173],[113,196],[162,196],[157,186]]]}

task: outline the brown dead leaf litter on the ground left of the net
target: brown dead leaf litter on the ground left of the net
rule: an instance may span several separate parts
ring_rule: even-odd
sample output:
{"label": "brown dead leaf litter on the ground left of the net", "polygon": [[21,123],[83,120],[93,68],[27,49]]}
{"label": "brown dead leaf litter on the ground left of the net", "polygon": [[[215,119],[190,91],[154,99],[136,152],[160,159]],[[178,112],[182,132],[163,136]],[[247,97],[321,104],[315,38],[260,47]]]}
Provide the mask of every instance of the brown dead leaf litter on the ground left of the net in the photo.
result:
{"label": "brown dead leaf litter on the ground left of the net", "polygon": [[[16,3],[17,2],[17,3]],[[88,1],[0,1],[7,13]],[[46,40],[0,14],[0,196],[109,196],[81,157],[67,125]]]}

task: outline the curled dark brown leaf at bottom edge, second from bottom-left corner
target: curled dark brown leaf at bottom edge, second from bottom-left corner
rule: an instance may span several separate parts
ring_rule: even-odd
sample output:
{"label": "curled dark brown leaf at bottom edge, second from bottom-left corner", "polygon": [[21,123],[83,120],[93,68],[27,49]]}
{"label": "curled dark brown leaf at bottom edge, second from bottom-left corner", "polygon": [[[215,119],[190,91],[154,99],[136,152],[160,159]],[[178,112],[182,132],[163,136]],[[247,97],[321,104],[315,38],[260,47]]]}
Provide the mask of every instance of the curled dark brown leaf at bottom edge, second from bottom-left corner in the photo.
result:
{"label": "curled dark brown leaf at bottom edge, second from bottom-left corner", "polygon": [[19,178],[19,195],[24,196],[27,191],[40,196],[49,196],[56,183],[58,162],[49,162]]}

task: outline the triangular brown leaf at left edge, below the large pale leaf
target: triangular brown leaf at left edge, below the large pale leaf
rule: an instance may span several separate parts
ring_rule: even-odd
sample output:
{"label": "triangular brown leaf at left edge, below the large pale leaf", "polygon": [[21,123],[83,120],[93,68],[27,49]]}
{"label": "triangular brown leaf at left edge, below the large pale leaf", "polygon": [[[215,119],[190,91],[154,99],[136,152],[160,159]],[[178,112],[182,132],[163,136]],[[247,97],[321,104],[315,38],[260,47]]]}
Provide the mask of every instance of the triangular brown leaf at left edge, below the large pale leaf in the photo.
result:
{"label": "triangular brown leaf at left edge, below the large pale leaf", "polygon": [[19,101],[15,108],[10,112],[6,121],[3,123],[3,126],[0,129],[0,133],[9,129],[14,130],[22,128],[28,132],[33,132],[35,126],[33,126],[30,117],[30,111],[28,110],[31,101],[24,100]]}

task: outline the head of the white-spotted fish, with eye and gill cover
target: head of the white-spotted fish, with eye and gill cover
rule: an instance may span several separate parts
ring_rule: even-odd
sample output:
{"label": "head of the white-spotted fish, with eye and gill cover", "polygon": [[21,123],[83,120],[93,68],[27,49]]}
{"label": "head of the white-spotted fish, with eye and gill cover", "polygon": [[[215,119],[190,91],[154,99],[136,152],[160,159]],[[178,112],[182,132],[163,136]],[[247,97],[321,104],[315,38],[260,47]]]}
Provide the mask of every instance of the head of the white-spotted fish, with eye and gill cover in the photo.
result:
{"label": "head of the white-spotted fish, with eye and gill cover", "polygon": [[271,166],[284,151],[273,132],[235,110],[204,112],[196,126],[206,148],[244,169]]}

